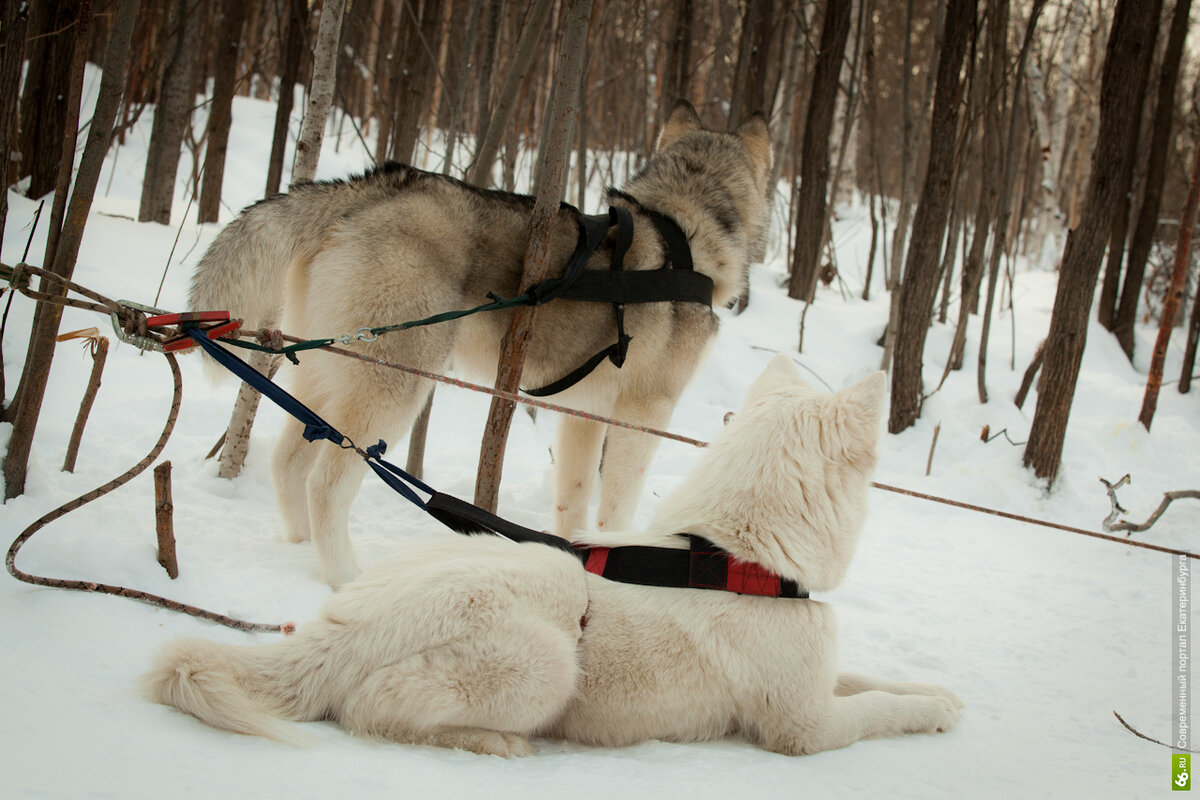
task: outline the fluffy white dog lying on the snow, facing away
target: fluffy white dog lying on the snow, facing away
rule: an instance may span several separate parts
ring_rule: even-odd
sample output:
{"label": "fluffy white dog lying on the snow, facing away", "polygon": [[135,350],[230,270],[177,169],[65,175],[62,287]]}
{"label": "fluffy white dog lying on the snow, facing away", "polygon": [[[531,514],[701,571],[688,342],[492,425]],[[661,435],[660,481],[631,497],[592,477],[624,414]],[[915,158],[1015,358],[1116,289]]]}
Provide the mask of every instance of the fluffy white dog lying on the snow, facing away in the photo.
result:
{"label": "fluffy white dog lying on the snow, facing away", "polygon": [[[834,588],[866,515],[883,391],[876,373],[817,392],[776,356],[649,530],[592,543],[686,548],[688,533],[802,590]],[[287,721],[334,720],[504,756],[532,752],[528,736],[732,732],[811,753],[947,730],[962,708],[937,686],[839,673],[826,603],[617,583],[546,545],[450,533],[380,563],[275,644],[167,645],[146,687],[240,733],[300,741]]]}

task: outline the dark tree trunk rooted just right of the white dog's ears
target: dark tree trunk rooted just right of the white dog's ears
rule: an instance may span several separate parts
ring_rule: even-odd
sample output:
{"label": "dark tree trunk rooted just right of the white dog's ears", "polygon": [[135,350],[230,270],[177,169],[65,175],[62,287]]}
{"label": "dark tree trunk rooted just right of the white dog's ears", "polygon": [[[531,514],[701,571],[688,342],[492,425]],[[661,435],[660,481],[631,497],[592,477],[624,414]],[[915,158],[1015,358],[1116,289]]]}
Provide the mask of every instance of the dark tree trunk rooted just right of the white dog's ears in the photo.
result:
{"label": "dark tree trunk rooted just right of the white dog's ears", "polygon": [[946,41],[937,64],[934,114],[930,122],[929,166],[920,203],[913,215],[912,239],[905,259],[896,344],[892,368],[892,411],[888,431],[899,433],[920,416],[925,333],[937,295],[942,239],[950,212],[954,145],[958,140],[962,58],[976,18],[976,0],[950,0],[946,8]]}

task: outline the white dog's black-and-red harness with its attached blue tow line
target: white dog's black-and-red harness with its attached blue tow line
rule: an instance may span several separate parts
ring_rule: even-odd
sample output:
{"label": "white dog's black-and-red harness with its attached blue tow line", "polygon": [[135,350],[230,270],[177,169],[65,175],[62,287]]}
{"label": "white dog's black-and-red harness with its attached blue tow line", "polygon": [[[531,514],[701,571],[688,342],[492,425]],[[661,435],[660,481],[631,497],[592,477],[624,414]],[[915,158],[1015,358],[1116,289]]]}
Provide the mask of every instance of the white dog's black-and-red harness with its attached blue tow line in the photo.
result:
{"label": "white dog's black-and-red harness with its attached blue tow line", "polygon": [[[438,492],[400,467],[384,461],[386,443],[379,440],[370,447],[359,447],[295,396],[209,338],[205,329],[185,327],[185,333],[217,363],[302,422],[305,439],[308,441],[328,439],[338,447],[355,451],[384,483],[460,534],[486,533],[515,542],[538,542],[557,547],[578,558],[588,572],[619,583],[715,589],[768,597],[808,597],[808,593],[802,591],[794,581],[781,578],[757,564],[740,561],[701,536],[679,534],[689,541],[686,549],[641,546],[577,547],[562,536],[518,525],[466,500]],[[430,497],[422,499],[421,494]]]}

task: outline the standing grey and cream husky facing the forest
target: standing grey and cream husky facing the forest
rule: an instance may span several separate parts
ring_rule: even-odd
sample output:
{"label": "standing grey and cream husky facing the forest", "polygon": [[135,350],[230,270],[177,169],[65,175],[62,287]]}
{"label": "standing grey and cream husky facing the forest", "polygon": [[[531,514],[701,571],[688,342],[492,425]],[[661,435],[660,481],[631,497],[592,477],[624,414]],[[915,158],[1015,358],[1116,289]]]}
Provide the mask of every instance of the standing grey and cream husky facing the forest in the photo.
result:
{"label": "standing grey and cream husky facing the forest", "polygon": [[[625,270],[665,266],[668,247],[654,224],[665,215],[686,236],[695,270],[713,281],[725,305],[746,283],[749,263],[767,233],[770,140],[755,115],[734,133],[702,128],[680,103],[654,156],[607,203],[634,219]],[[485,302],[518,290],[533,198],[482,191],[402,164],[348,181],[305,184],[269,198],[229,223],[192,277],[190,305],[227,309],[247,325],[306,338],[337,336]],[[580,212],[562,206],[551,246],[551,276],[560,275],[578,235]],[[588,261],[607,270],[613,242]],[[665,427],[716,333],[716,317],[695,302],[630,305],[632,337],[624,366],[610,362],[556,399],[594,414]],[[449,365],[486,381],[496,375],[511,311],[488,312],[390,333],[370,354],[426,371]],[[610,344],[613,308],[605,302],[554,300],[542,306],[524,367],[526,387],[556,381]],[[313,351],[294,369],[293,393],[354,441],[394,440],[412,426],[431,391],[427,380],[353,359]],[[312,445],[289,421],[276,445],[272,476],[292,541],[313,540],[324,578],[340,585],[359,570],[347,521],[366,467],[353,452]],[[554,449],[558,533],[586,524],[599,473],[605,474],[598,524],[631,522],[656,440],[564,417]]]}

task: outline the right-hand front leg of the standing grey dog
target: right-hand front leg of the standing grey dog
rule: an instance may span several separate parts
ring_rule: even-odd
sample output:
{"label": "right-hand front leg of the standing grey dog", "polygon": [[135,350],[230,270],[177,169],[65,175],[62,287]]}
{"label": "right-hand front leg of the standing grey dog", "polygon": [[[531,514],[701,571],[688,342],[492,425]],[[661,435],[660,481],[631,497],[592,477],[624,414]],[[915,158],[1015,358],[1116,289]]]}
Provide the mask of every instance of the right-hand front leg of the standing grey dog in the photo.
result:
{"label": "right-hand front leg of the standing grey dog", "polygon": [[[674,396],[620,397],[613,416],[652,428],[665,428],[674,409]],[[610,428],[600,467],[600,510],[596,525],[625,530],[632,525],[634,512],[646,482],[646,470],[658,450],[659,438],[629,428]]]}

